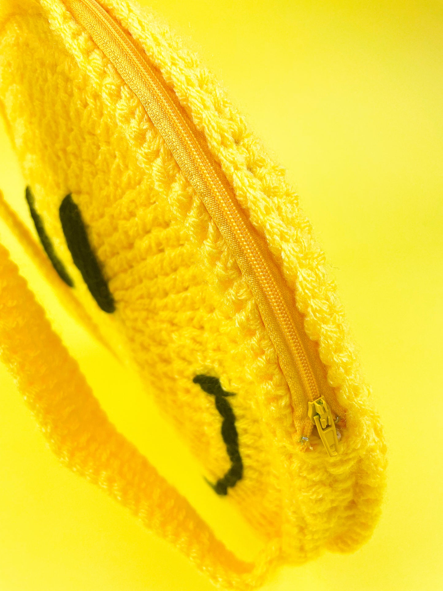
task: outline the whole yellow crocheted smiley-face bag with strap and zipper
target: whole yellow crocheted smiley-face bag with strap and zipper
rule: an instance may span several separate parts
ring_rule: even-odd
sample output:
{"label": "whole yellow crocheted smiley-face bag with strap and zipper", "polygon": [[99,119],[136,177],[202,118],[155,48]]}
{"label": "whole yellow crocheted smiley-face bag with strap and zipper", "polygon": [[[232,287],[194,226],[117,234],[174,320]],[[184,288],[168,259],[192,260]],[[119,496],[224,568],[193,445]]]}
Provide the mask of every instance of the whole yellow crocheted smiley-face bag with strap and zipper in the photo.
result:
{"label": "whole yellow crocheted smiley-face bag with strap and zipper", "polygon": [[268,542],[239,560],[115,430],[0,245],[2,361],[54,452],[221,586],[359,547],[385,443],[284,171],[132,0],[2,0],[0,18],[1,109],[41,244],[4,199],[3,219]]}

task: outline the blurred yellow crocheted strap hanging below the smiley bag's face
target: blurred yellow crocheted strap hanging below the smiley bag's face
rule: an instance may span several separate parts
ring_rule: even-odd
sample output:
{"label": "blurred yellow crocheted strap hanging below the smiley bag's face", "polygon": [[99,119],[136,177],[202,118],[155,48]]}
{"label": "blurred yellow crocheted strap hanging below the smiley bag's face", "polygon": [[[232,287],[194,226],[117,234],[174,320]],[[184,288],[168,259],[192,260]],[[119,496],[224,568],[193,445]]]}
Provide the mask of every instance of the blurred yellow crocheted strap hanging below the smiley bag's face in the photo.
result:
{"label": "blurred yellow crocheted strap hanging below the smiley bag's face", "polygon": [[61,462],[131,509],[215,584],[242,590],[263,584],[281,561],[278,541],[255,563],[246,563],[217,540],[189,502],[110,423],[1,244],[0,359]]}

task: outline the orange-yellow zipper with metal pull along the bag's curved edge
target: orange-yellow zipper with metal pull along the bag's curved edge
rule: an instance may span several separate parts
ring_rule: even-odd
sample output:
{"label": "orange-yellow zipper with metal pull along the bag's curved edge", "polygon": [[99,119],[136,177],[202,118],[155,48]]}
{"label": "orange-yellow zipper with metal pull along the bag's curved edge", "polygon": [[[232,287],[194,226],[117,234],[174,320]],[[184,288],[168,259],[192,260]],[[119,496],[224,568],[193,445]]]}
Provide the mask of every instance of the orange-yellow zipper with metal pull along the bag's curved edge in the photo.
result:
{"label": "orange-yellow zipper with metal pull along the bag's curved edge", "polygon": [[[203,134],[144,51],[96,0],[63,1],[138,97],[232,250],[258,304],[291,391],[298,436],[306,440],[313,424],[317,426],[312,417],[320,414],[310,411],[312,417],[308,415],[308,403],[314,402],[317,410],[328,408],[330,428],[335,433],[333,415],[322,398],[315,372],[312,371],[312,353],[308,355],[304,343],[307,337],[301,336],[304,335],[302,319],[295,310],[293,298],[268,249],[237,202],[222,168],[211,155]],[[336,401],[334,407],[338,408]],[[343,413],[340,412],[340,415]],[[321,425],[321,421],[318,424]],[[335,455],[338,450],[338,446],[334,446],[336,434],[332,440],[329,436],[322,437],[320,434],[320,437],[328,454]]]}

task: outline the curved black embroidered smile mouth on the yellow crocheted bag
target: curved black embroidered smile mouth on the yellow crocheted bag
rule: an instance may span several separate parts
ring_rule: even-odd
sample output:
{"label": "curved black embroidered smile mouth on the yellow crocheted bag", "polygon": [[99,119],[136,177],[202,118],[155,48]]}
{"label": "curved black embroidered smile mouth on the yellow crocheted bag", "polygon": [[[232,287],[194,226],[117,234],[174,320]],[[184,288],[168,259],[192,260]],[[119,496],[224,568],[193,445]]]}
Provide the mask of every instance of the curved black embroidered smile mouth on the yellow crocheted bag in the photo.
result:
{"label": "curved black embroidered smile mouth on the yellow crocheted bag", "polygon": [[232,392],[225,392],[220,384],[219,378],[213,378],[209,375],[196,375],[193,379],[194,384],[199,384],[200,388],[207,394],[215,397],[216,408],[223,417],[222,437],[226,444],[226,451],[231,460],[231,467],[215,484],[209,483],[217,495],[227,495],[227,489],[236,485],[238,480],[243,477],[243,462],[239,450],[239,435],[235,426],[235,415],[231,405],[226,400],[228,396],[234,396]]}

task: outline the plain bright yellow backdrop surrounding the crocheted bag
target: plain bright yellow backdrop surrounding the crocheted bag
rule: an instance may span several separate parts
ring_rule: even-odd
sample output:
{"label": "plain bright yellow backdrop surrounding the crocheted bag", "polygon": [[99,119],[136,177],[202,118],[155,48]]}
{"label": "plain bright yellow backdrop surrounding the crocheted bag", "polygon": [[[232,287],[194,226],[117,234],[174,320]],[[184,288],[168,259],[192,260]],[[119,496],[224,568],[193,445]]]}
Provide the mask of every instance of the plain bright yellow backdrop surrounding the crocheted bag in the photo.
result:
{"label": "plain bright yellow backdrop surrounding the crocheted bag", "polygon": [[[148,4],[148,2],[146,2]],[[193,39],[288,168],[337,277],[386,426],[389,486],[372,540],[282,570],[273,591],[443,589],[443,5],[151,0]],[[0,187],[25,212],[4,131]],[[0,238],[106,411],[240,556],[253,538],[142,391]],[[209,591],[185,558],[58,465],[0,366],[0,589]]]}

